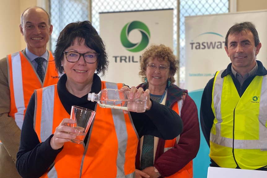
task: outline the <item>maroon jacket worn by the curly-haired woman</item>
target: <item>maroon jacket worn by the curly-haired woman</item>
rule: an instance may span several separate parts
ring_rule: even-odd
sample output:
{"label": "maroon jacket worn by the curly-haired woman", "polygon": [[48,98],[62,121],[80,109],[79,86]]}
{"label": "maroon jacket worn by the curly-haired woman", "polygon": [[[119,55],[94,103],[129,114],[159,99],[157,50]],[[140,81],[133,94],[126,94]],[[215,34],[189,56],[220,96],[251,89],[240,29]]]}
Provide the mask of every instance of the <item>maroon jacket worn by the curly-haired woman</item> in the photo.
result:
{"label": "maroon jacket worn by the curly-haired woman", "polygon": [[[147,89],[146,83],[137,86],[137,88],[139,87],[142,87],[144,90]],[[155,153],[154,166],[162,177],[171,176],[181,170],[196,157],[199,150],[200,131],[198,111],[195,102],[188,95],[187,90],[182,90],[176,85],[170,85],[168,87],[165,105],[172,108],[174,103],[182,99],[182,94],[186,94],[186,97],[180,114],[183,121],[183,131],[180,134],[180,140],[178,144],[174,145],[174,148],[164,153],[165,140],[159,139]],[[136,169],[140,169],[140,141],[135,157],[135,167]]]}

